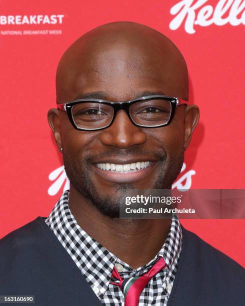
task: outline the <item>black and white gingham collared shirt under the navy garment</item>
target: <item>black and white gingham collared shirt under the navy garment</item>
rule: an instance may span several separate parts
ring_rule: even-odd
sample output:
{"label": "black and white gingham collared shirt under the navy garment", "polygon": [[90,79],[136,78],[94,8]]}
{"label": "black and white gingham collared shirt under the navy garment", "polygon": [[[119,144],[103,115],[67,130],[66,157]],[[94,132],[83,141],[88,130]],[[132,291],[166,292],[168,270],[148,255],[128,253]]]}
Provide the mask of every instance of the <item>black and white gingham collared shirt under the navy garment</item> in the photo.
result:
{"label": "black and white gingham collared shirt under the navy garment", "polygon": [[139,306],[166,305],[182,245],[182,231],[178,217],[176,215],[172,217],[168,236],[158,254],[144,266],[133,270],[82,230],[69,210],[68,198],[69,190],[66,190],[45,222],[70,254],[101,303],[113,306],[124,305],[121,290],[118,286],[109,283],[115,263],[123,267],[120,272],[121,277],[128,278],[143,274],[158,256],[162,256],[167,268],[158,272],[148,282],[139,297]]}

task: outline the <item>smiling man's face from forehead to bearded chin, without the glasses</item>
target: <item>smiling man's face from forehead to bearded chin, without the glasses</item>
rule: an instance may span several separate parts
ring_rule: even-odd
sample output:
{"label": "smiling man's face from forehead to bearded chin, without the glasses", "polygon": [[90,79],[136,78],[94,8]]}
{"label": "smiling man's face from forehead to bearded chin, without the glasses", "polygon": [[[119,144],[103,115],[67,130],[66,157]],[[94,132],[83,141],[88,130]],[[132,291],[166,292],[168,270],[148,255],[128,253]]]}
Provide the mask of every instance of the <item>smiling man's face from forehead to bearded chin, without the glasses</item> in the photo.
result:
{"label": "smiling man's face from forehead to bearded chin, without the glasses", "polygon": [[[65,82],[60,103],[79,97],[109,101],[165,94],[187,99],[186,84],[177,68],[152,48],[85,48]],[[135,126],[123,110],[113,124],[97,131],[75,129],[59,111],[64,167],[71,185],[105,215],[118,217],[120,193],[128,188],[171,188],[184,152],[184,107],[176,108],[171,123],[157,128]],[[98,164],[123,165],[145,162],[146,167],[120,173]],[[113,166],[112,166],[113,167]]]}

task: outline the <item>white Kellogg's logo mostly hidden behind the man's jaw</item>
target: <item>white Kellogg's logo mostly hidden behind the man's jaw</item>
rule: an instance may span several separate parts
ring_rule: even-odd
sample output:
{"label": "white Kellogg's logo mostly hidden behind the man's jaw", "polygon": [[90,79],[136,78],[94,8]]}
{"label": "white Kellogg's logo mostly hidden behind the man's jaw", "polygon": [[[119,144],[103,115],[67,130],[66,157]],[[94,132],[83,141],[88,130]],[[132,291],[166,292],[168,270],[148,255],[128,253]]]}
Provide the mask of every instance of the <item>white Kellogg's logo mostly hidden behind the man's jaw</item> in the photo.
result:
{"label": "white Kellogg's logo mostly hidden behind the man's jaw", "polygon": [[[180,173],[182,173],[186,168],[186,164],[183,163]],[[180,176],[173,184],[172,189],[177,188],[180,189],[189,189],[191,187],[191,176],[195,174],[195,170],[188,170],[182,176]],[[64,192],[65,190],[69,189],[69,180],[66,176],[64,166],[60,166],[53,170],[49,175],[48,179],[53,181],[51,186],[48,188],[47,193],[49,195],[55,195],[59,192],[62,185]]]}

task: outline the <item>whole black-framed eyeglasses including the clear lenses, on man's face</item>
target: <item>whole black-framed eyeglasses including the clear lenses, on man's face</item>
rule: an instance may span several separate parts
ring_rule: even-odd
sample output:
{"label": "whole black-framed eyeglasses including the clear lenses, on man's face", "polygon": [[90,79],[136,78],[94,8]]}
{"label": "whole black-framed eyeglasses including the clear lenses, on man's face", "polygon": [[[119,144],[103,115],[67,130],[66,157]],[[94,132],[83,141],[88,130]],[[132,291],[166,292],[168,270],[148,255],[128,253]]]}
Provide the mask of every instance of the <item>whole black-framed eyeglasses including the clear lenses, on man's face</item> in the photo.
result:
{"label": "whole black-framed eyeglasses including the clear lenses, on man's face", "polygon": [[187,104],[187,101],[173,96],[147,95],[120,102],[77,99],[57,104],[57,108],[67,112],[74,128],[97,130],[109,127],[120,109],[123,109],[131,122],[137,126],[164,126],[171,122],[176,107],[181,104]]}

